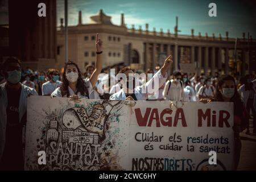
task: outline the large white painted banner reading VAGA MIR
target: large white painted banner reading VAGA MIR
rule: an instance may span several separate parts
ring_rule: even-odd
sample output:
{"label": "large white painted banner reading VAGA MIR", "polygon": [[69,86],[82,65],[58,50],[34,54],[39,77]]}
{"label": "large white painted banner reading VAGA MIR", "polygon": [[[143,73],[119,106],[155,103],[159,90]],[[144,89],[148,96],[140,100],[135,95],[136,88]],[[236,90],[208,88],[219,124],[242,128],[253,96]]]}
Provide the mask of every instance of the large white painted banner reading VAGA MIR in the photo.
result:
{"label": "large white painted banner reading VAGA MIR", "polygon": [[[31,96],[27,170],[232,170],[233,103]],[[46,152],[39,165],[38,152]],[[217,164],[209,164],[216,151]]]}

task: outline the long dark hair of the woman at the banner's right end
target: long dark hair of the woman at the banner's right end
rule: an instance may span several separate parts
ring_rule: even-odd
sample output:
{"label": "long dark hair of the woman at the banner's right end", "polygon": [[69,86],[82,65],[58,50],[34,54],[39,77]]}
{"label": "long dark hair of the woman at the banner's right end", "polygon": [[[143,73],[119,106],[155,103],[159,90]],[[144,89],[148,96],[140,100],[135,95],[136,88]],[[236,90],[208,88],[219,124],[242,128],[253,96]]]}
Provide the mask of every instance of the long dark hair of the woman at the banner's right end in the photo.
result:
{"label": "long dark hair of the woman at the banner's right end", "polygon": [[238,115],[240,118],[243,117],[243,102],[241,100],[240,94],[237,92],[237,87],[236,87],[236,82],[234,80],[233,76],[230,75],[225,75],[221,76],[218,78],[218,83],[217,83],[217,88],[216,88],[216,93],[214,96],[214,99],[219,102],[224,102],[222,98],[222,94],[218,88],[222,88],[222,85],[224,84],[225,81],[231,80],[234,82],[234,96],[230,98],[230,102],[234,103],[234,115]]}

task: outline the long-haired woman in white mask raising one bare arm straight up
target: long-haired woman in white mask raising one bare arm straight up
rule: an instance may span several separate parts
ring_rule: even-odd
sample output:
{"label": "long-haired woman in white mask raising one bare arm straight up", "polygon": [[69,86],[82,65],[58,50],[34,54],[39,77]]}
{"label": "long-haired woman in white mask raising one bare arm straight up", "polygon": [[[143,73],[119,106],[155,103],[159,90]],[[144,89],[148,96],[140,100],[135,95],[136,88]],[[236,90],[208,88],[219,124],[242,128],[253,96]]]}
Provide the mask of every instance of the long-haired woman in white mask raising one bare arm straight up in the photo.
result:
{"label": "long-haired woman in white mask raising one bare arm straight up", "polygon": [[73,61],[68,61],[64,67],[63,84],[54,90],[51,97],[70,97],[72,100],[90,97],[102,69],[102,41],[98,38],[98,34],[96,35],[96,51],[96,68],[90,78],[83,80],[78,65]]}

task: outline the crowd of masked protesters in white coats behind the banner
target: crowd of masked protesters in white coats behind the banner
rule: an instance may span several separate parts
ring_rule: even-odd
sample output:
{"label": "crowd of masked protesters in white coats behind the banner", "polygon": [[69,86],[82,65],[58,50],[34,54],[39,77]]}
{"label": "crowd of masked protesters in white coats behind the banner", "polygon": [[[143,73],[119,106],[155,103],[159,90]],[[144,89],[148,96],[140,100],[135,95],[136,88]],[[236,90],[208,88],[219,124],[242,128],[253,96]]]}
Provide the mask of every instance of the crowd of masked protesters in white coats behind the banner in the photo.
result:
{"label": "crowd of masked protesters in white coats behind the banner", "polygon": [[[168,76],[172,56],[163,65],[148,69],[146,78],[135,84],[134,73],[142,73],[130,67],[115,67],[115,75],[122,73],[126,79],[117,80],[110,68],[102,70],[102,41],[96,36],[96,65],[86,67],[81,73],[75,61],[68,61],[63,72],[52,68],[48,71],[22,69],[15,57],[9,57],[2,65],[0,77],[0,170],[23,169],[23,129],[26,125],[27,97],[31,95],[96,98],[105,100],[158,100],[158,101],[201,101],[234,102],[235,164],[238,166],[241,150],[240,132],[250,134],[249,118],[253,118],[253,133],[256,133],[256,77],[220,75],[212,77],[203,73],[193,75],[174,71]],[[100,73],[106,73],[100,76]],[[151,77],[148,77],[151,75]],[[149,93],[150,85],[158,81],[157,92]],[[110,84],[114,82],[114,84]],[[103,87],[99,86],[103,85]],[[144,92],[143,92],[144,90]],[[145,91],[146,90],[146,91]],[[18,155],[17,155],[18,152]]]}

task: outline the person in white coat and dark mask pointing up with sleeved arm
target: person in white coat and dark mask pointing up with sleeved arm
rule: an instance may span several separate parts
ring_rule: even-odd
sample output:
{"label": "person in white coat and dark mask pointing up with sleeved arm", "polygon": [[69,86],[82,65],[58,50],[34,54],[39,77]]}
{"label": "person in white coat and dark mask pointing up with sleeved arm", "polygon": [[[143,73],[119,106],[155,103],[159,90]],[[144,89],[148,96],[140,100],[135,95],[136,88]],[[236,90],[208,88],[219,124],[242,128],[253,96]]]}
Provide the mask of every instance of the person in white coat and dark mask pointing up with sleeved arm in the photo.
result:
{"label": "person in white coat and dark mask pointing up with sleeved arm", "polygon": [[[119,92],[114,93],[112,96],[110,96],[110,100],[147,100],[148,96],[154,95],[154,93],[158,91],[160,86],[164,84],[167,78],[167,69],[170,67],[171,64],[172,56],[169,55],[164,61],[164,65],[162,66],[162,68],[158,72],[156,72],[155,75],[146,82],[146,84],[143,84],[141,86],[135,86],[135,78],[133,76],[130,76],[134,75],[134,72],[130,68],[122,68],[121,73],[125,74],[126,82],[123,85],[123,88],[119,90]],[[154,88],[153,90],[152,85],[158,85],[158,88]],[[124,88],[125,90],[127,90],[127,92],[125,92]],[[150,89],[152,89],[152,91],[154,92],[149,92]]]}

